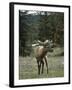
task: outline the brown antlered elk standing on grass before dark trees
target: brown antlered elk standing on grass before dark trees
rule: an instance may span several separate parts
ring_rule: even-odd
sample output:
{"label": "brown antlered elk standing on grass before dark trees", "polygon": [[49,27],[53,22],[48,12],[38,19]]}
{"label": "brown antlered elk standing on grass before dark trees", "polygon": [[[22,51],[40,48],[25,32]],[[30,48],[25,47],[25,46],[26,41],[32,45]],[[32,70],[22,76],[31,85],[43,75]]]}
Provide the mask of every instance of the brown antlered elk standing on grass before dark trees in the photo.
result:
{"label": "brown antlered elk standing on grass before dark trees", "polygon": [[[47,52],[52,52],[52,41],[45,40],[45,42],[37,41],[36,44],[32,44],[34,47],[34,54],[37,60],[38,65],[38,74],[40,75],[40,71],[43,74],[44,71],[44,62],[46,63],[47,73],[48,73],[48,62],[47,62]],[[41,70],[42,66],[42,70]]]}

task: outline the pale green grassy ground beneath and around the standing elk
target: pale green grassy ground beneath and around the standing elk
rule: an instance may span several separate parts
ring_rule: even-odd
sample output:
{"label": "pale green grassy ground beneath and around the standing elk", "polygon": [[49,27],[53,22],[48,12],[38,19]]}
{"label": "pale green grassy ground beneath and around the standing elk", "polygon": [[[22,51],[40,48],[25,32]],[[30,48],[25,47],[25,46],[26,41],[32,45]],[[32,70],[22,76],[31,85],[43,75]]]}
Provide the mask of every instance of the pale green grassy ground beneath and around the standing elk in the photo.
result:
{"label": "pale green grassy ground beneath and around the standing elk", "polygon": [[46,65],[44,65],[44,73],[38,75],[38,67],[35,57],[19,57],[19,79],[63,77],[64,56],[58,55],[62,51],[62,48],[57,48],[53,53],[48,53],[48,74],[46,71]]}

